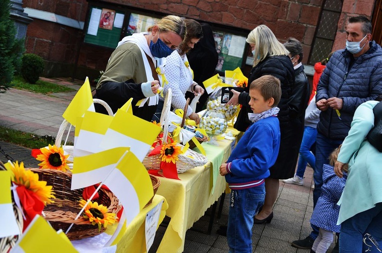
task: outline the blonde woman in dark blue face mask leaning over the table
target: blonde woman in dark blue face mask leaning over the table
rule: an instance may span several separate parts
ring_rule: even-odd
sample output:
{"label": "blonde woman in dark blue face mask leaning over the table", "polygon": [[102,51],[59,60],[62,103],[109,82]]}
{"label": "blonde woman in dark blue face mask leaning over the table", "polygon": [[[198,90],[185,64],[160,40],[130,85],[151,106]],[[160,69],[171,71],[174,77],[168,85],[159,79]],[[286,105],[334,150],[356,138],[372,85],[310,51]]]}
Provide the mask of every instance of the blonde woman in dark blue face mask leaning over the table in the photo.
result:
{"label": "blonde woman in dark blue face mask leaning over the table", "polygon": [[[115,113],[133,98],[133,114],[151,121],[157,107],[161,77],[160,58],[170,55],[186,35],[184,21],[174,15],[160,19],[149,32],[124,37],[111,54],[98,81],[95,97],[104,100]],[[139,106],[137,102],[143,100]],[[106,113],[96,105],[96,111]]]}

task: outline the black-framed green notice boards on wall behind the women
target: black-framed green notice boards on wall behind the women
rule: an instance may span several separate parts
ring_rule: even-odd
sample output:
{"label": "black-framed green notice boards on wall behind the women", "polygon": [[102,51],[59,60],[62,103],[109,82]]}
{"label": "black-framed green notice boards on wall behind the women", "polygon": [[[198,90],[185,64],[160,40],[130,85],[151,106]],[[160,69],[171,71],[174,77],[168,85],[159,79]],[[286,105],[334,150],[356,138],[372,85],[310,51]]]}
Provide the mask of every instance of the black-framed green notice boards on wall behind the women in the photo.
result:
{"label": "black-framed green notice boards on wall behind the women", "polygon": [[[165,13],[131,6],[89,0],[84,25],[84,43],[116,48],[124,36],[147,31],[148,27],[165,15]],[[209,24],[214,33],[215,48],[219,55],[216,72],[224,74],[225,70],[244,68],[249,48],[245,39],[249,30],[215,23]]]}

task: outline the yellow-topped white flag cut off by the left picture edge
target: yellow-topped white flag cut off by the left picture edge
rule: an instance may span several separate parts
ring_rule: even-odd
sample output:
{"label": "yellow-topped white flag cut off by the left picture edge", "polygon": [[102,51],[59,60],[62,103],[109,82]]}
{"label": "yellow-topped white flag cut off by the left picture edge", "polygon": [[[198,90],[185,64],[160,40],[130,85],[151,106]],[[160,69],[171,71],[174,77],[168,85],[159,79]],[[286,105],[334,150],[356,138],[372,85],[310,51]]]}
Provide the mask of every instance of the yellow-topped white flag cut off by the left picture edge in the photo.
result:
{"label": "yellow-topped white flag cut off by the left picture edge", "polygon": [[16,218],[13,213],[12,197],[10,191],[10,172],[0,171],[0,238],[19,235],[21,228],[18,228]]}

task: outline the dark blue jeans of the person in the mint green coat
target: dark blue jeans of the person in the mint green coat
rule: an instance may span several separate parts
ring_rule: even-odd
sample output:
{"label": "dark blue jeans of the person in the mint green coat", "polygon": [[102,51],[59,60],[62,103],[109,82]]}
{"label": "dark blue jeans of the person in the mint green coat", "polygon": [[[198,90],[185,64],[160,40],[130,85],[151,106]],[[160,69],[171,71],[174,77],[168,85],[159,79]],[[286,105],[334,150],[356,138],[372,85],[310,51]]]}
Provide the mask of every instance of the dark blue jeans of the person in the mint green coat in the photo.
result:
{"label": "dark blue jeans of the person in the mint green coat", "polygon": [[[359,213],[341,224],[340,253],[370,252],[380,253],[376,246],[369,240],[371,235],[382,250],[382,203],[374,208]],[[371,246],[369,248],[369,246]],[[370,251],[368,251],[370,249]]]}

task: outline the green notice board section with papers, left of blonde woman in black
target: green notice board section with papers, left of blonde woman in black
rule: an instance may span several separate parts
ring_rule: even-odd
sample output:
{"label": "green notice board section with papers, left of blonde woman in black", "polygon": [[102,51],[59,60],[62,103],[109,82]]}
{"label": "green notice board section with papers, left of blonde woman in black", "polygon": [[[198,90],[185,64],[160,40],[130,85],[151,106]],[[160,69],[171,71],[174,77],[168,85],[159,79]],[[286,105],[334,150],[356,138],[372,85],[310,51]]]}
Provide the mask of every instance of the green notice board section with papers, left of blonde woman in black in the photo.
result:
{"label": "green notice board section with papers, left of blonde woman in black", "polygon": [[245,37],[229,32],[214,31],[216,52],[218,52],[217,71],[234,70],[241,67],[245,49]]}

